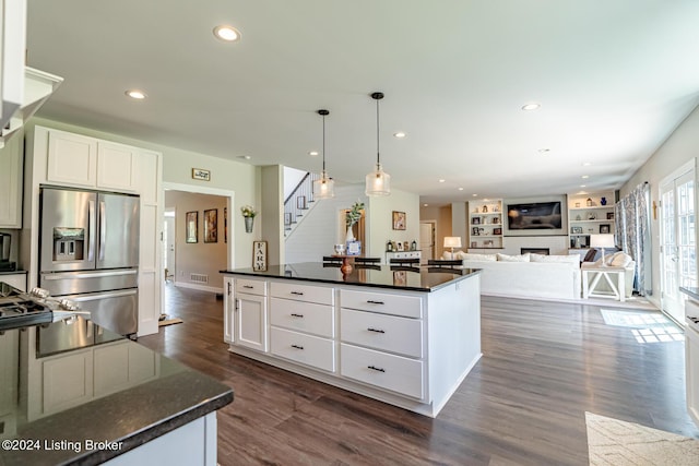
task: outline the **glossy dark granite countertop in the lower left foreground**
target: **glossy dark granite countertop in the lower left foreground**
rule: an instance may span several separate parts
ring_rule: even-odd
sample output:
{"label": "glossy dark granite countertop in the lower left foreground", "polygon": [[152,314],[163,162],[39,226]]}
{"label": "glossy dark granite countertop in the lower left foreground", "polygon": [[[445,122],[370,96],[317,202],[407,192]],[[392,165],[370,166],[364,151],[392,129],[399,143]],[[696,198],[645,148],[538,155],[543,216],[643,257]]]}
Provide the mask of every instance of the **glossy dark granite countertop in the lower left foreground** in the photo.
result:
{"label": "glossy dark granite countertop in the lower left foreground", "polygon": [[[233,390],[211,377],[91,324],[78,318],[70,325],[59,321],[0,333],[0,465],[100,464],[233,402]],[[90,331],[76,337],[75,325]],[[45,342],[62,337],[60,351],[43,356],[39,351],[43,337]],[[134,345],[127,346],[128,351],[121,354],[133,351],[149,365],[153,361],[149,366],[152,373],[143,381],[130,381],[126,387],[115,389],[115,393],[88,396],[81,405],[37,417],[43,382],[31,379],[29,371],[40,373],[42,365],[51,358],[80,357],[91,348],[120,344]],[[96,365],[97,358],[93,361]],[[52,371],[51,375],[70,377],[60,371]],[[54,382],[71,383],[69,379]],[[56,443],[62,441],[66,443]],[[116,450],[86,451],[87,441],[121,443],[112,444]]]}

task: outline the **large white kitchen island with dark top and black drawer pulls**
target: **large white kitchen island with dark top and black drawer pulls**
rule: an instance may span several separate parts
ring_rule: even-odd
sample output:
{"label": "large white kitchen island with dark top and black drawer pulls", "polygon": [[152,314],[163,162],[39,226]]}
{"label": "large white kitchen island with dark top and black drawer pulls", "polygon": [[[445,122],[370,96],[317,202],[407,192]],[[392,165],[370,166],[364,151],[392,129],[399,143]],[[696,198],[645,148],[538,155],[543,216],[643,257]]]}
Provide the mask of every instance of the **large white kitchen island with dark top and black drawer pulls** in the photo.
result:
{"label": "large white kitchen island with dark top and black drawer pulls", "polygon": [[415,413],[436,417],[482,356],[477,270],[222,273],[229,351]]}

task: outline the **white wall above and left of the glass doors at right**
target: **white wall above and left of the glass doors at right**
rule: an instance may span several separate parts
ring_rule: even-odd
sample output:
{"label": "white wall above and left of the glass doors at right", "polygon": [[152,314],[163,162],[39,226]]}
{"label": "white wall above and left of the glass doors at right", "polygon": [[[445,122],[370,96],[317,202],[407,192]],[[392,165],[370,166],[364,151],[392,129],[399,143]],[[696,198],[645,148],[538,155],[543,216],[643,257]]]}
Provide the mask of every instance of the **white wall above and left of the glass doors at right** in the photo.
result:
{"label": "white wall above and left of the glass doors at right", "polygon": [[[684,164],[699,156],[699,107],[683,121],[653,156],[619,190],[620,198],[639,184],[651,186],[651,205],[660,205],[660,181]],[[660,207],[659,207],[660,208]],[[660,218],[660,214],[659,214]],[[648,298],[660,307],[660,225],[651,213],[651,255],[653,295]]]}

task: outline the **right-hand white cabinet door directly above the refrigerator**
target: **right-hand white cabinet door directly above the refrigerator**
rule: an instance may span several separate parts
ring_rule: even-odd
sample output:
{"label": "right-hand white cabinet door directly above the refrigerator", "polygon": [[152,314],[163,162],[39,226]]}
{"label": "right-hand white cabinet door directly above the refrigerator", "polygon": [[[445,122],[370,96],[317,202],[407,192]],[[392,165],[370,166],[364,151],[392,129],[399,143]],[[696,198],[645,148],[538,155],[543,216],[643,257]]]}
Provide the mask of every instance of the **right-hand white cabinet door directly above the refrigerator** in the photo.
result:
{"label": "right-hand white cabinet door directly above the refrigerator", "polygon": [[119,192],[137,191],[138,160],[139,154],[135,147],[99,141],[97,187]]}

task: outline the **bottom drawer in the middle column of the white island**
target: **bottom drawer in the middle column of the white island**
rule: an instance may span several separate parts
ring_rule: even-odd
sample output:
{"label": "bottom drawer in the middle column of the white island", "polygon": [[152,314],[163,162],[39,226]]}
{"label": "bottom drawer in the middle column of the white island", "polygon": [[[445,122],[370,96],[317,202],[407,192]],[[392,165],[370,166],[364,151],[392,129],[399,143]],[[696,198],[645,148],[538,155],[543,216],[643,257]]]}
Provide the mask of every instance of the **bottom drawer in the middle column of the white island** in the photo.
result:
{"label": "bottom drawer in the middle column of the white island", "polygon": [[272,327],[272,354],[306,366],[335,372],[335,345],[332,339]]}

